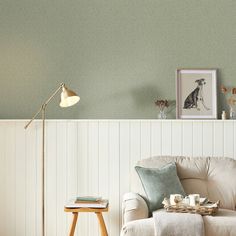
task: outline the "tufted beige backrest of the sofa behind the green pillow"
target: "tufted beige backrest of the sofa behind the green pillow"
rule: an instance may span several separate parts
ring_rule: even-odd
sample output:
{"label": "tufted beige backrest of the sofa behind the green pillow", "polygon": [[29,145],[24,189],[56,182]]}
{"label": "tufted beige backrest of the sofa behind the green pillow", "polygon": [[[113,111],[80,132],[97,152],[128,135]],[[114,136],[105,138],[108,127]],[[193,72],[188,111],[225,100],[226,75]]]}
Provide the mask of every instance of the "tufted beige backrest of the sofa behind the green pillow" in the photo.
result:
{"label": "tufted beige backrest of the sofa behind the green pillow", "polygon": [[[220,200],[221,208],[235,210],[236,160],[223,157],[157,156],[140,160],[137,165],[161,168],[175,162],[186,194],[200,193],[211,201]],[[143,194],[140,184],[133,190]]]}

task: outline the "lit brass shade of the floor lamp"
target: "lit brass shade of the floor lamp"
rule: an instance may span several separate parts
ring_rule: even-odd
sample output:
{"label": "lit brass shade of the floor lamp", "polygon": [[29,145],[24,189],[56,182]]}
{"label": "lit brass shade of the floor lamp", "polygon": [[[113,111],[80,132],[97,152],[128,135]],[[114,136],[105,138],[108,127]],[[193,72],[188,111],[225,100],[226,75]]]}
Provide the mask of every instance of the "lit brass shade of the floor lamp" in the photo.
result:
{"label": "lit brass shade of the floor lamp", "polygon": [[65,86],[62,87],[61,102],[60,102],[61,107],[73,106],[77,102],[79,102],[79,100],[80,100],[80,97],[75,92],[73,92],[72,90],[69,90]]}

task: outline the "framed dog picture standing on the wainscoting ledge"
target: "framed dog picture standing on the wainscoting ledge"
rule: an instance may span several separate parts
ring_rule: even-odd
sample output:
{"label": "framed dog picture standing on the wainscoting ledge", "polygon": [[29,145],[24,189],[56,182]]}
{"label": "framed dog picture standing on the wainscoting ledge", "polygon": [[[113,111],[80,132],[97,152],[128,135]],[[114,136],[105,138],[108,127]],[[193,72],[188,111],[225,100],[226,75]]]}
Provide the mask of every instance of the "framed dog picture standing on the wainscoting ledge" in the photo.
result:
{"label": "framed dog picture standing on the wainscoting ledge", "polygon": [[217,119],[216,77],[216,69],[177,69],[177,119]]}

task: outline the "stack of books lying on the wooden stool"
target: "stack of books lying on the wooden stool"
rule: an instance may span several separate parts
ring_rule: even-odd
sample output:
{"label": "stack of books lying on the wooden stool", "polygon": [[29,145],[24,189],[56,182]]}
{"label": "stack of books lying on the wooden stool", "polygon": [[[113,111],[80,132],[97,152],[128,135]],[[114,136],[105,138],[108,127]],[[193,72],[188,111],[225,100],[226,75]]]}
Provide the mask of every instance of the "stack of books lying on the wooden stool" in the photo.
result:
{"label": "stack of books lying on the wooden stool", "polygon": [[66,208],[106,208],[108,200],[96,196],[81,196],[72,199],[66,204]]}

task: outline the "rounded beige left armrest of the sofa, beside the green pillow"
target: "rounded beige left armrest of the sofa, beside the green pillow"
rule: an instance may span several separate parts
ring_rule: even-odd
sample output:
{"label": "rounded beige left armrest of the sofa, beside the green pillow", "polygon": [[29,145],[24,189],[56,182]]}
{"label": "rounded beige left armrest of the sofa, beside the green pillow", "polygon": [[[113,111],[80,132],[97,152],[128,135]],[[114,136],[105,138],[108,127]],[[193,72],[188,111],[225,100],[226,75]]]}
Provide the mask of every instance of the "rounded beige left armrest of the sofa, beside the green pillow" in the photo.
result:
{"label": "rounded beige left armrest of the sofa, beside the green pillow", "polygon": [[122,202],[122,224],[129,221],[148,218],[148,206],[137,193],[126,193]]}

